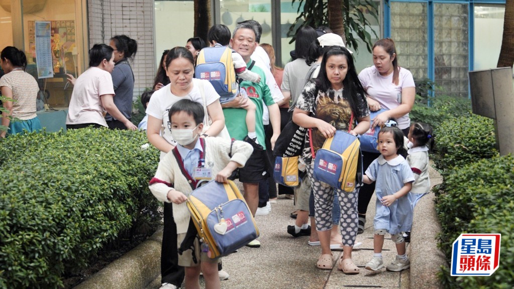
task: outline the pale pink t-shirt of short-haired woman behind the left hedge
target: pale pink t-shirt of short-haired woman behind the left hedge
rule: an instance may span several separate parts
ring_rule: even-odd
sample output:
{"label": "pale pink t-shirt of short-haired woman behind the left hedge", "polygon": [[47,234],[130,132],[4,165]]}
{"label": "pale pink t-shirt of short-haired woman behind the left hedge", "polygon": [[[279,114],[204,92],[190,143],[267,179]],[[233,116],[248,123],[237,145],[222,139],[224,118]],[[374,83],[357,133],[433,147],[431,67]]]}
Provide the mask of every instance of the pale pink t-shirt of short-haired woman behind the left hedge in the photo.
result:
{"label": "pale pink t-shirt of short-haired woman behind the left hedge", "polygon": [[114,95],[111,74],[98,67],[89,67],[77,78],[66,116],[66,124],[98,123],[107,127],[101,96]]}

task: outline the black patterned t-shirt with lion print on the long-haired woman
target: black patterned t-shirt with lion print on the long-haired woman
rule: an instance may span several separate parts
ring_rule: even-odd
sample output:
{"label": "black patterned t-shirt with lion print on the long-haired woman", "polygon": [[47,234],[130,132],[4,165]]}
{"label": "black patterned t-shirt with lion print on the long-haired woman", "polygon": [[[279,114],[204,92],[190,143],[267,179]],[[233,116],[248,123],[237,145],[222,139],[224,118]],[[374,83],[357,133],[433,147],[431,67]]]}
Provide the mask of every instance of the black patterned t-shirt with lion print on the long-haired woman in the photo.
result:
{"label": "black patterned t-shirt with lion print on the long-haired woman", "polygon": [[[355,128],[357,118],[370,114],[368,102],[366,102],[364,96],[357,95],[354,101],[357,104],[357,111],[353,112],[352,128]],[[303,88],[296,107],[302,111],[309,112],[311,117],[322,119],[332,124],[338,131],[347,132],[348,128],[350,128],[352,108],[348,100],[343,97],[343,89],[335,91],[329,88],[326,92],[322,92],[317,87],[316,80],[310,80]],[[323,146],[326,137],[317,128],[312,129],[312,137],[312,145],[314,151],[317,152]],[[303,149],[303,159],[306,164],[310,164],[312,160],[309,143],[310,137],[309,134],[306,134],[306,145]]]}

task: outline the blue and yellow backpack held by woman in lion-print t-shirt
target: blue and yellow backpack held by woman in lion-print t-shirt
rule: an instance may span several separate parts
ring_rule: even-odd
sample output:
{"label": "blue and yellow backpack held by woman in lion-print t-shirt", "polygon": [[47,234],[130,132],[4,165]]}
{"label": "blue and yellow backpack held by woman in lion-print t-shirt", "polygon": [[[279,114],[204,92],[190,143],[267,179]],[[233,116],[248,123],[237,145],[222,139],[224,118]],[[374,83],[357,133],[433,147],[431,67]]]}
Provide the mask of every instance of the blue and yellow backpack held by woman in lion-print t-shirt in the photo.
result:
{"label": "blue and yellow backpack held by woman in lion-print t-shirt", "polygon": [[[309,130],[310,136],[310,130]],[[314,178],[345,192],[362,183],[362,154],[356,136],[336,131],[314,155]]]}

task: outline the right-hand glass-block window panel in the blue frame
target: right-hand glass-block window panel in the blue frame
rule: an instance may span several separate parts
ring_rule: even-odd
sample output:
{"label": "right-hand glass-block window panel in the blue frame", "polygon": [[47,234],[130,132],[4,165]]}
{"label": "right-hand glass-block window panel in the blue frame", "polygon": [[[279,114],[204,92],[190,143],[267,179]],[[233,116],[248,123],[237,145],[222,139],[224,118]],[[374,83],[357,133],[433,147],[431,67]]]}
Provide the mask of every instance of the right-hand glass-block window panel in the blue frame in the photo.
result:
{"label": "right-hand glass-block window panel in the blue frame", "polygon": [[434,3],[434,11],[434,80],[443,88],[436,94],[468,97],[468,5]]}

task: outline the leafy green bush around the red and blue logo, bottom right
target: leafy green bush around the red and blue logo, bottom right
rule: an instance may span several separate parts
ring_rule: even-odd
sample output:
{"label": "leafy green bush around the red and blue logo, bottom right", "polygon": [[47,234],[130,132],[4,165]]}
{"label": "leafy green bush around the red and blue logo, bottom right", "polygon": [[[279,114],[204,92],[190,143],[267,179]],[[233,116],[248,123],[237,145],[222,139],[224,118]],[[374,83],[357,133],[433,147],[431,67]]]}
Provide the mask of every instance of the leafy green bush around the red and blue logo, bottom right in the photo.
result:
{"label": "leafy green bush around the red and blue logo, bottom right", "polygon": [[514,156],[501,156],[470,162],[445,178],[436,211],[442,225],[440,248],[451,260],[451,248],[461,233],[501,233],[498,270],[490,277],[440,274],[444,287],[511,288],[514,274]]}

